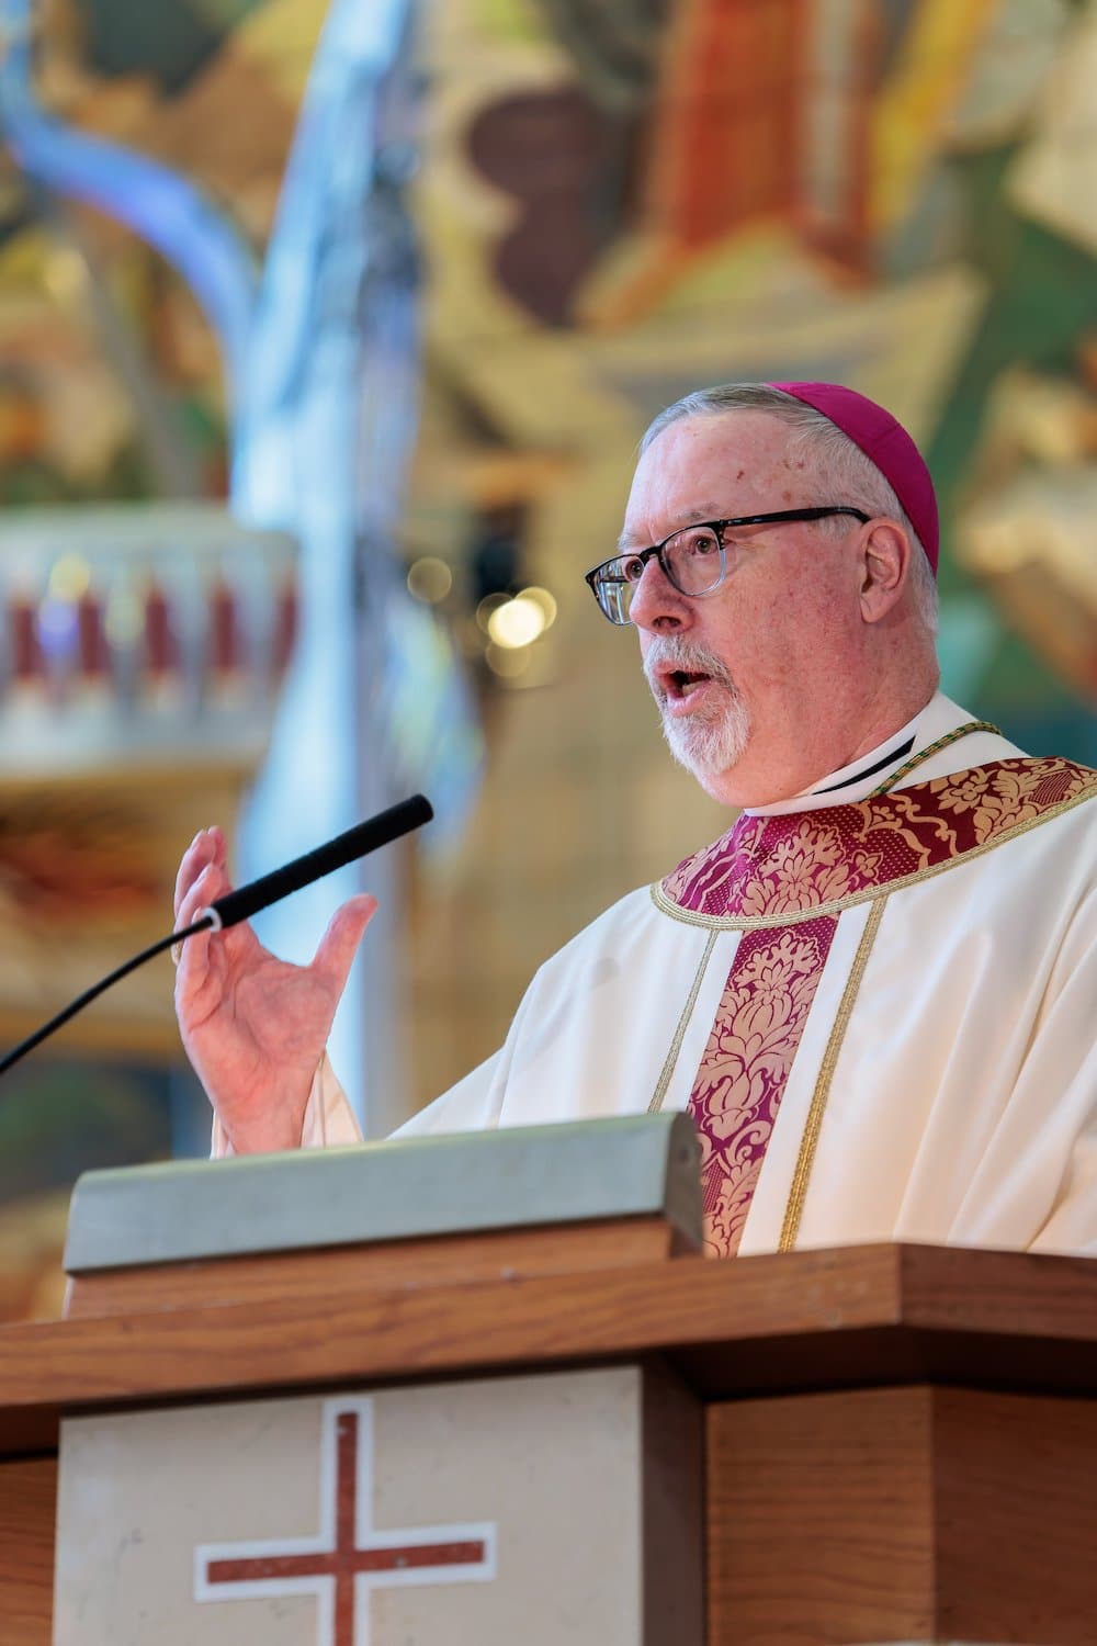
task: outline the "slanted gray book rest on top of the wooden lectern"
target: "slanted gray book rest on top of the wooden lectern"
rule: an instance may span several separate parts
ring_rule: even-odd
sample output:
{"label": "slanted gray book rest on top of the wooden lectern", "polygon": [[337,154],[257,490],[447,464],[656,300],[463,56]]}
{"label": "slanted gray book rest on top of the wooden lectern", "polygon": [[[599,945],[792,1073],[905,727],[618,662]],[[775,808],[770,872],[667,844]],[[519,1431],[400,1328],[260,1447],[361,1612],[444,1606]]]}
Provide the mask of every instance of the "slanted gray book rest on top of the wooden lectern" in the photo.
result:
{"label": "slanted gray book rest on top of the wooden lectern", "polygon": [[87,1172],[69,1274],[507,1228],[663,1216],[701,1244],[686,1114]]}

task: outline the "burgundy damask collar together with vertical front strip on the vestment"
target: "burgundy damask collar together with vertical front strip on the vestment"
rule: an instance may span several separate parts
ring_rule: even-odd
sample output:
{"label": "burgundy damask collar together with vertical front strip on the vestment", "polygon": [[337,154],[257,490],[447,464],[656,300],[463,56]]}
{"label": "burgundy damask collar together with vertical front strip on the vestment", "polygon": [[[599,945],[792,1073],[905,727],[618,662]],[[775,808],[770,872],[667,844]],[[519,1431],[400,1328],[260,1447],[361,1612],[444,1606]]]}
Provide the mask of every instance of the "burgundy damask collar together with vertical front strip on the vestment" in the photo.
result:
{"label": "burgundy damask collar together with vertical front strip on the vestment", "polygon": [[837,928],[812,914],[1005,839],[1097,795],[1069,760],[997,760],[855,805],[740,816],[663,882],[683,910],[788,917],[743,932],[689,1098],[702,1151],[706,1249],[738,1249],[808,1012]]}

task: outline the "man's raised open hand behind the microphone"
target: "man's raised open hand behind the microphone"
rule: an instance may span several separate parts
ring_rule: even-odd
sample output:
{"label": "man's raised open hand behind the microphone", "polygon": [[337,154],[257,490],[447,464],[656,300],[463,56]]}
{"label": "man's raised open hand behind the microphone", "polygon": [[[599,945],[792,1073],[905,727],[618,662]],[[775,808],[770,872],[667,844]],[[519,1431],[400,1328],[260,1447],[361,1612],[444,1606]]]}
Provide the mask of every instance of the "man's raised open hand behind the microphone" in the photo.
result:
{"label": "man's raised open hand behind the microphone", "polygon": [[[232,890],[225,838],[201,830],[176,877],[176,930]],[[240,923],[199,932],[176,966],[183,1045],[237,1154],[294,1149],[336,1006],[377,900],[336,910],[309,966],[278,960]]]}

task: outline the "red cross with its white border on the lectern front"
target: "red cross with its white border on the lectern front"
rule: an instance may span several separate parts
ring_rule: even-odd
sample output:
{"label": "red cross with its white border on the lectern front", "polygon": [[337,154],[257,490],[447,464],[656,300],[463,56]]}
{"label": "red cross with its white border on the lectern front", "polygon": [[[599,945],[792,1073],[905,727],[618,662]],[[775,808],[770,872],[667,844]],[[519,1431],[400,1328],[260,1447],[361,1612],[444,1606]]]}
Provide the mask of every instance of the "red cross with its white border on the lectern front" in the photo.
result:
{"label": "red cross with its white border on the lectern front", "polygon": [[319,1646],[368,1646],[368,1610],[355,1588],[492,1582],[495,1526],[373,1531],[373,1404],[326,1401],[321,1435],[321,1532],[281,1542],[204,1544],[196,1551],[197,1600],[314,1593]]}

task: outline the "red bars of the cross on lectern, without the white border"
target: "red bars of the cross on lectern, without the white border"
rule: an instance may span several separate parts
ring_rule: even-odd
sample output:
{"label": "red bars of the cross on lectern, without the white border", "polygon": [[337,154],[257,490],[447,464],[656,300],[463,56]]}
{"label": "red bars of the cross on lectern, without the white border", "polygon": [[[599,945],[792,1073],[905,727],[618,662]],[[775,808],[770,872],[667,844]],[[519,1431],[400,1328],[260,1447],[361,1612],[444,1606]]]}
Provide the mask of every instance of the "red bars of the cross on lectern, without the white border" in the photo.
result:
{"label": "red bars of the cross on lectern, without the white border", "polygon": [[[426,1582],[444,1582],[444,1574],[454,1570],[454,1579],[490,1577],[493,1565],[493,1527],[469,1527],[485,1536],[437,1542],[401,1542],[400,1532],[370,1536],[357,1542],[359,1523],[359,1416],[355,1411],[336,1414],[336,1536],[331,1549],[306,1554],[262,1554],[237,1559],[207,1559],[207,1583],[276,1583],[280,1579],[331,1577],[334,1580],[334,1634],[332,1646],[355,1646],[354,1630],[354,1580],[359,1572],[421,1572]],[[367,1440],[368,1445],[368,1440]],[[436,1527],[436,1531],[461,1531],[462,1527]],[[410,1537],[408,1532],[403,1534]],[[469,1570],[469,1567],[480,1570]],[[383,1582],[383,1579],[382,1579]],[[214,1598],[214,1597],[211,1597]],[[230,1598],[225,1595],[225,1598]]]}

